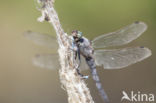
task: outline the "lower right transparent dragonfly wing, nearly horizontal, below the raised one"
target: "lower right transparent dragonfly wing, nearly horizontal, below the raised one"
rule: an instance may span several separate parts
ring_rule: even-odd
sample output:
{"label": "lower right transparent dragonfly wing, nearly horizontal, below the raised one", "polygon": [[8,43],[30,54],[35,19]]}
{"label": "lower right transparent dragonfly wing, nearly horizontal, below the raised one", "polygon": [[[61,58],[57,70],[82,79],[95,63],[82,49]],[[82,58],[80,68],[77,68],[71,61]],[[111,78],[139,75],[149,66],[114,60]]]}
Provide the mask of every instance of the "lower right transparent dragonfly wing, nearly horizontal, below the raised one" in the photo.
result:
{"label": "lower right transparent dragonfly wing, nearly horizontal, below the raised one", "polygon": [[145,47],[131,47],[114,50],[96,50],[96,65],[103,65],[104,69],[120,69],[146,59],[151,51]]}

